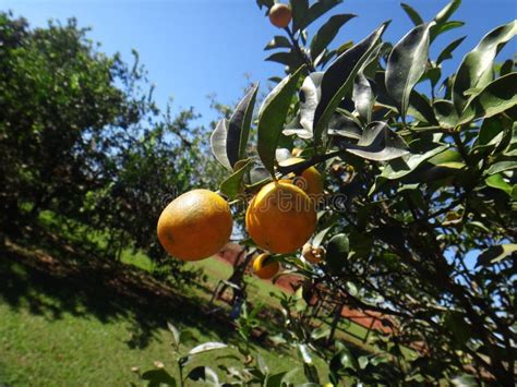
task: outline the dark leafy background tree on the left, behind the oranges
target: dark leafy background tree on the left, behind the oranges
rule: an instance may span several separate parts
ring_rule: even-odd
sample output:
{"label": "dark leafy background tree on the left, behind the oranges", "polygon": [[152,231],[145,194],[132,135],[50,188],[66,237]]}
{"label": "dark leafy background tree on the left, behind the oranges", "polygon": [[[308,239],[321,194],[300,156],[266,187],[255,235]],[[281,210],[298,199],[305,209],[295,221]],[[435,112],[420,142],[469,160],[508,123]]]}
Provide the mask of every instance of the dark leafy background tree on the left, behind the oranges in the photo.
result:
{"label": "dark leafy background tree on the left, behind the oranges", "polygon": [[[193,109],[161,113],[134,55],[98,51],[75,20],[29,28],[0,13],[0,229],[20,233],[43,210],[164,262],[156,219],[175,194],[211,185]],[[205,165],[200,169],[200,165]]]}

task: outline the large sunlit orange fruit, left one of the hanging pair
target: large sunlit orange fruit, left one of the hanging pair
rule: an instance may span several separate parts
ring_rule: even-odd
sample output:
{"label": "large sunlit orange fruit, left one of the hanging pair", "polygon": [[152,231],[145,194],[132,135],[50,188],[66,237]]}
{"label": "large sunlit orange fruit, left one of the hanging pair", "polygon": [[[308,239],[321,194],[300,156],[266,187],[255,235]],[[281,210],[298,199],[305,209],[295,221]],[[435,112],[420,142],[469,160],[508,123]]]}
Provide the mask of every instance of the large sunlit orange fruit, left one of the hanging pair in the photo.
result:
{"label": "large sunlit orange fruit, left one of the hanging pair", "polygon": [[228,203],[215,192],[193,190],[175,198],[158,219],[158,240],[181,261],[216,254],[231,235],[233,220]]}

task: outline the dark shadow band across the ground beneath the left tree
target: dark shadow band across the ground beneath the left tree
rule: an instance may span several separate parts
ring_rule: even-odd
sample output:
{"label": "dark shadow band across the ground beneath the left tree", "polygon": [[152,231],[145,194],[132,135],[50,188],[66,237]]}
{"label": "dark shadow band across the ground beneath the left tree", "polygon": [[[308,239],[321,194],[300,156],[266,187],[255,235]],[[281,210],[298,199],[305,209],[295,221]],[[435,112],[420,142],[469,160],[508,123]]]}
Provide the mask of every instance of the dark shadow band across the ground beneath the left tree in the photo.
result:
{"label": "dark shadow band across the ground beneath the left tree", "polygon": [[[206,301],[185,295],[146,271],[80,255],[55,243],[52,255],[7,242],[0,250],[0,300],[13,310],[59,319],[63,313],[108,323],[132,323],[130,348],[145,348],[170,321],[220,341],[236,343],[228,314],[209,311]],[[212,313],[211,313],[212,312]]]}

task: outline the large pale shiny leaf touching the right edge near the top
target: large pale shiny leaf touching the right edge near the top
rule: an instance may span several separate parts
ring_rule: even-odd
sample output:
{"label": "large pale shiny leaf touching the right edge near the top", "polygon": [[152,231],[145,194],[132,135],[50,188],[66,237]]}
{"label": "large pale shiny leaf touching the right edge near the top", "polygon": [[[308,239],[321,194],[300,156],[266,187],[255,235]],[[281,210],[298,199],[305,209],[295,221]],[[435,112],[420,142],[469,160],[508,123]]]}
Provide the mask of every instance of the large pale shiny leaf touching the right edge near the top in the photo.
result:
{"label": "large pale shiny leaf touching the right edge near the top", "polygon": [[469,96],[465,92],[483,88],[493,78],[494,60],[505,44],[517,34],[517,21],[498,26],[486,34],[461,61],[453,84],[453,101],[458,114],[464,111]]}

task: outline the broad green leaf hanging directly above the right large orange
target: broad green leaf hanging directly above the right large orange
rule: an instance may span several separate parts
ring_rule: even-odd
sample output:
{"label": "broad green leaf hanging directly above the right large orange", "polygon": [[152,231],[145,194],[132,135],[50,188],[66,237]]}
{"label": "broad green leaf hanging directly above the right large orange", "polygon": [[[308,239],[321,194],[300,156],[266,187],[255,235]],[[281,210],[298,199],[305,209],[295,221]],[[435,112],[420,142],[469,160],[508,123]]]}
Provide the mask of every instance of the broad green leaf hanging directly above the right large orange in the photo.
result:
{"label": "broad green leaf hanging directly above the right large orange", "polygon": [[274,174],[275,152],[292,96],[304,66],[286,76],[262,102],[258,111],[257,150],[264,167]]}

